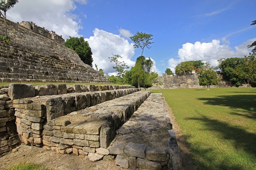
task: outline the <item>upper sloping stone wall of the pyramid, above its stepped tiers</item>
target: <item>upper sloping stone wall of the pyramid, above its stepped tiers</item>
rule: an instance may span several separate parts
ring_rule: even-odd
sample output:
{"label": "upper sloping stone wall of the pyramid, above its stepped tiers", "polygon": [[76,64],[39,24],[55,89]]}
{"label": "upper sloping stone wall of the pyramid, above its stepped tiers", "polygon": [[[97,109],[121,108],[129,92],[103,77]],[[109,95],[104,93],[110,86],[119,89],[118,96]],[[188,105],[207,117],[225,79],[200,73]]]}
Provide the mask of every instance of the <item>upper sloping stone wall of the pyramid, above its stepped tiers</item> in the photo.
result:
{"label": "upper sloping stone wall of the pyramid, above its stepped tiers", "polygon": [[[64,40],[59,35],[50,34],[43,28],[35,25],[31,26],[29,22],[22,24],[24,26],[7,20],[7,34],[11,38],[12,45],[48,57],[65,58],[74,61],[77,65],[94,70],[89,65],[83,63],[74,50],[65,47]],[[0,35],[5,35],[4,32],[4,19],[0,18]]]}

